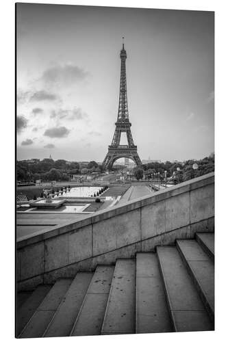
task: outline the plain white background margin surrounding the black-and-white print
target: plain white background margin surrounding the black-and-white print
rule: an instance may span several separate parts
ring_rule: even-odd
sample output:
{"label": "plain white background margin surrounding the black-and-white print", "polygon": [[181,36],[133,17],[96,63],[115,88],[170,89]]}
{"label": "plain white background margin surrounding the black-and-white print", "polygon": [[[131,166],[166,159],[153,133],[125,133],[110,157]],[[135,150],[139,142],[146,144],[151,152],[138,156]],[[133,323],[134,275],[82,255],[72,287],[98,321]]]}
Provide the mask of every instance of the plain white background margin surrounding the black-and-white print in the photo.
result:
{"label": "plain white background margin surrounding the black-and-white print", "polygon": [[[21,1],[23,2],[23,1]],[[227,336],[227,13],[225,0],[24,1],[72,5],[212,10],[216,23],[216,332],[75,337],[75,341],[225,340]],[[14,1],[1,0],[1,339],[14,339]],[[6,190],[7,188],[7,190]],[[7,203],[7,206],[5,205]],[[72,338],[71,338],[72,339]],[[43,341],[30,339],[29,341]],[[54,341],[70,341],[57,338]]]}

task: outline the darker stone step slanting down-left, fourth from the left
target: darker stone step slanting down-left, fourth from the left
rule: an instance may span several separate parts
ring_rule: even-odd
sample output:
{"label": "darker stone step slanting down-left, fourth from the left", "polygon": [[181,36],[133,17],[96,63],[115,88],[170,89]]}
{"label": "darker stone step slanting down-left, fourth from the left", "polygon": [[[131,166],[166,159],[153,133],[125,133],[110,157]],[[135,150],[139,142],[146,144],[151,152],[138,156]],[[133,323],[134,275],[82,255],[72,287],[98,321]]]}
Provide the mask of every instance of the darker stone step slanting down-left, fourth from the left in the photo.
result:
{"label": "darker stone step slanting down-left, fourth from the left", "polygon": [[71,333],[92,276],[92,272],[77,273],[43,337],[62,337]]}

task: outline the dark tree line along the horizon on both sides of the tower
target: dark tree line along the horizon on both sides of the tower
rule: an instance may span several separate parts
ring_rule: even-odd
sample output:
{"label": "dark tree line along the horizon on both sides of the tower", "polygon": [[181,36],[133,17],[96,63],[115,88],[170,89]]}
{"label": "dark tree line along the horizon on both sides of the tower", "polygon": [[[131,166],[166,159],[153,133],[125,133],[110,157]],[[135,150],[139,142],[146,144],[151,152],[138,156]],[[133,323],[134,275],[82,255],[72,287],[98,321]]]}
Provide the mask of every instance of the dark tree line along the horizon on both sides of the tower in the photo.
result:
{"label": "dark tree line along the horizon on both sides of the tower", "polygon": [[[192,168],[197,163],[198,168]],[[125,166],[121,166],[125,168]],[[197,176],[203,176],[214,171],[214,154],[203,159],[189,159],[184,163],[166,161],[162,163],[151,162],[143,164],[141,167],[134,168],[136,179],[143,177],[146,179],[159,178],[163,180],[165,177],[180,183],[188,181]],[[16,162],[17,181],[68,181],[73,174],[91,174],[92,172],[103,172],[103,168],[96,161],[88,163],[79,163],[77,161],[66,161],[64,159],[43,159],[35,163],[29,161]]]}

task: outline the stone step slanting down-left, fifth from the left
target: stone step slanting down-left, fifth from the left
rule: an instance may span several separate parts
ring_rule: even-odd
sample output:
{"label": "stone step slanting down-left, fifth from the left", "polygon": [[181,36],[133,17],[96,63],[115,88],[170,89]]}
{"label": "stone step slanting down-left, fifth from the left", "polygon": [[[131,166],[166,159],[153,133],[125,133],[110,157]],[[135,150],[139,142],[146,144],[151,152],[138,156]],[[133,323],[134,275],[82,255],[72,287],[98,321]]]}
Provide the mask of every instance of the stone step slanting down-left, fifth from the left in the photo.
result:
{"label": "stone step slanting down-left, fifth from the left", "polygon": [[114,266],[97,266],[81,304],[71,336],[101,334]]}

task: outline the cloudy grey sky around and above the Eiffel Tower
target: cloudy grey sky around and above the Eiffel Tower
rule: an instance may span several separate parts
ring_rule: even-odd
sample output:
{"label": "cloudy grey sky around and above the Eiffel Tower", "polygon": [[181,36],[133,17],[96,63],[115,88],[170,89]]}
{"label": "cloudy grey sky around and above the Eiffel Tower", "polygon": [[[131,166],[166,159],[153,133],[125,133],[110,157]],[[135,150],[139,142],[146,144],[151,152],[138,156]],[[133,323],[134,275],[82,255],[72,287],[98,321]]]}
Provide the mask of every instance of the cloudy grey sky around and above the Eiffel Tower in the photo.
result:
{"label": "cloudy grey sky around and above the Eiffel Tower", "polygon": [[214,13],[18,3],[17,158],[102,161],[122,36],[141,159],[214,151]]}

